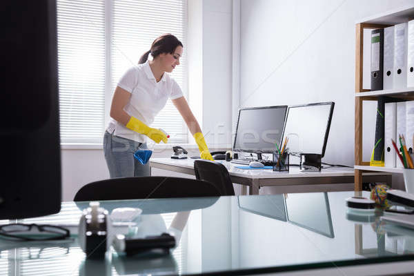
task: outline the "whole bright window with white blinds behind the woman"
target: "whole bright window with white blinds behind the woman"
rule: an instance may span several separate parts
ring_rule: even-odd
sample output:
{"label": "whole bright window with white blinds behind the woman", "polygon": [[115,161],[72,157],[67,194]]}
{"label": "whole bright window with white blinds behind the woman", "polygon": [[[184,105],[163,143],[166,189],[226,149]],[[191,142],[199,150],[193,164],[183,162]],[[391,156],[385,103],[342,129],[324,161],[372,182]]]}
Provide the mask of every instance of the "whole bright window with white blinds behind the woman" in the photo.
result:
{"label": "whole bright window with white blinds behind the woman", "polygon": [[[57,0],[62,143],[101,144],[117,81],[160,34],[186,45],[187,0]],[[186,51],[172,77],[186,95]],[[168,101],[152,124],[187,141],[186,126]]]}

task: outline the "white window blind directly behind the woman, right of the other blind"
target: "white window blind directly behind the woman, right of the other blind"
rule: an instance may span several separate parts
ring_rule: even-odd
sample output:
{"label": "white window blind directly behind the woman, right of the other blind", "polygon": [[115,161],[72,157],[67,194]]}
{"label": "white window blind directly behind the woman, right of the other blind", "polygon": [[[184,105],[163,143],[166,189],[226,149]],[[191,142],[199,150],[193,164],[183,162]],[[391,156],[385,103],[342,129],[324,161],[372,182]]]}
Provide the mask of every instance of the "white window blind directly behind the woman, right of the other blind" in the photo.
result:
{"label": "white window blind directly behind the woman, right of the other blind", "polygon": [[[117,0],[112,2],[111,57],[112,91],[119,78],[137,65],[152,41],[164,33],[174,34],[186,45],[187,2],[183,0]],[[170,75],[186,95],[186,51]],[[170,100],[152,123],[170,135],[172,143],[186,142],[186,126]]]}

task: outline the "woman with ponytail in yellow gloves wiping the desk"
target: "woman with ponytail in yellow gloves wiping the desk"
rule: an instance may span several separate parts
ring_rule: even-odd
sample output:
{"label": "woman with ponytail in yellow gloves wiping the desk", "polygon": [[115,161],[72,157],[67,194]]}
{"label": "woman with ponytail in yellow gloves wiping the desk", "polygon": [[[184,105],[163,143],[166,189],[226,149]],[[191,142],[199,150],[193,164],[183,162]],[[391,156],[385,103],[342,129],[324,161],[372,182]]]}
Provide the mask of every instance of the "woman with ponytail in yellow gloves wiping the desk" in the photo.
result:
{"label": "woman with ponytail in yellow gloves wiping the desk", "polygon": [[[148,55],[152,61],[148,61]],[[181,92],[177,82],[166,72],[179,65],[183,44],[172,34],[163,34],[152,42],[151,49],[121,77],[115,89],[110,108],[110,123],[103,137],[103,149],[110,177],[150,175],[149,164],[141,165],[134,159],[134,152],[145,149],[146,137],[156,143],[167,143],[166,134],[151,128],[158,112],[166,101],[175,107],[199,146],[202,159],[213,161],[201,128]]]}

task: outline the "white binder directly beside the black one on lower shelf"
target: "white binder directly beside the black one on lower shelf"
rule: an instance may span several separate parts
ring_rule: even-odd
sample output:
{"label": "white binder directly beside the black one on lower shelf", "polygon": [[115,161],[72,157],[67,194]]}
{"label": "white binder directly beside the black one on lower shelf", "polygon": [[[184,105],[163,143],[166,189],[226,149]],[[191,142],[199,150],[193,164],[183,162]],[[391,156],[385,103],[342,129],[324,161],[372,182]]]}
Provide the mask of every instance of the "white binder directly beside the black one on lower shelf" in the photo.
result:
{"label": "white binder directly beside the black one on lower shelf", "polygon": [[397,103],[385,103],[384,112],[384,162],[386,167],[395,168],[397,155],[391,139],[397,133]]}

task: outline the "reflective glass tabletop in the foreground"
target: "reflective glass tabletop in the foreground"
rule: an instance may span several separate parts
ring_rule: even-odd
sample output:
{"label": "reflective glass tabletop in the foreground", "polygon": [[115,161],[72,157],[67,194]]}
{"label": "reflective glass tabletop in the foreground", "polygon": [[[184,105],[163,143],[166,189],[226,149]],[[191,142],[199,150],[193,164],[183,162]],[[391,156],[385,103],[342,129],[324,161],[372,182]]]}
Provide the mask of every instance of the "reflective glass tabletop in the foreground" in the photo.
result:
{"label": "reflective glass tabletop in the foreground", "polygon": [[345,199],[353,195],[101,201],[109,213],[119,207],[143,210],[133,224],[117,231],[136,237],[172,232],[177,239],[177,247],[167,255],[124,256],[110,248],[104,259],[86,259],[79,247],[77,224],[88,203],[63,202],[59,214],[23,222],[66,226],[71,238],[34,244],[0,240],[0,271],[6,275],[219,275],[413,260],[414,230],[385,224],[380,211],[349,210]]}

